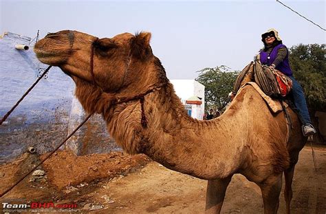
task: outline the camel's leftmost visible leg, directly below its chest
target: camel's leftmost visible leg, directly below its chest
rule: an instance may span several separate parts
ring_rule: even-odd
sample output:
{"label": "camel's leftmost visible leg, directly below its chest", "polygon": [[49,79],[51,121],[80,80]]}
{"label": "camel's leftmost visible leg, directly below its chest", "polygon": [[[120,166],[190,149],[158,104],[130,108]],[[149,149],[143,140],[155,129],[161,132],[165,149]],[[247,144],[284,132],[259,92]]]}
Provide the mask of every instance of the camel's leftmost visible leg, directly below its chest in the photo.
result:
{"label": "camel's leftmost visible leg, directly below its chest", "polygon": [[220,213],[226,195],[226,188],[232,176],[224,179],[208,180],[205,213]]}

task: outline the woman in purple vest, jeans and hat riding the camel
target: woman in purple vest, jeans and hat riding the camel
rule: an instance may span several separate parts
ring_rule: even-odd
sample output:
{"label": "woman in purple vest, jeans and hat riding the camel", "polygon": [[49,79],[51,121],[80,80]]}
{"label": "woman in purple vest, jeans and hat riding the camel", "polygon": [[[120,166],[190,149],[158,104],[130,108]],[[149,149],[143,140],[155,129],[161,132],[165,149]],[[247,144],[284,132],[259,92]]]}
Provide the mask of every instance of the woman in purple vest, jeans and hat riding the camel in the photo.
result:
{"label": "woman in purple vest, jeans and hat riding the camel", "polygon": [[261,35],[261,41],[263,41],[264,44],[263,49],[259,51],[261,64],[265,64],[281,71],[292,80],[292,96],[294,106],[298,112],[298,117],[303,124],[303,135],[309,136],[315,134],[316,130],[310,121],[303,88],[298,82],[296,82],[292,75],[289,63],[289,51],[287,50],[287,47],[283,45],[279,33],[276,29],[268,29],[267,32]]}

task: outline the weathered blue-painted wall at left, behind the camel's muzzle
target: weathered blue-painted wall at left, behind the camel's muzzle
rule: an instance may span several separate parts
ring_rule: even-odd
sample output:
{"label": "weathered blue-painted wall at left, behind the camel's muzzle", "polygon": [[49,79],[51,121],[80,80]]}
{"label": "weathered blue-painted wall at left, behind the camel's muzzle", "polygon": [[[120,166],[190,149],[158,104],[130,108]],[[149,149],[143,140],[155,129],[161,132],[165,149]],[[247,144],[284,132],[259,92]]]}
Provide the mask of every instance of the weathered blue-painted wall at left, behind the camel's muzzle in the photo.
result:
{"label": "weathered blue-painted wall at left, behind the camel's muzzle", "polygon": [[[6,32],[0,38],[0,117],[17,102],[46,68],[36,59],[30,38]],[[29,45],[28,51],[19,51],[14,45]],[[21,104],[0,125],[0,163],[8,162],[27,150],[36,147],[40,154],[53,150],[78,122],[83,110],[73,102],[74,82],[57,67],[35,86]],[[77,105],[77,107],[76,107]],[[89,130],[91,129],[91,131]],[[89,154],[119,150],[97,115],[67,148],[75,154]]]}

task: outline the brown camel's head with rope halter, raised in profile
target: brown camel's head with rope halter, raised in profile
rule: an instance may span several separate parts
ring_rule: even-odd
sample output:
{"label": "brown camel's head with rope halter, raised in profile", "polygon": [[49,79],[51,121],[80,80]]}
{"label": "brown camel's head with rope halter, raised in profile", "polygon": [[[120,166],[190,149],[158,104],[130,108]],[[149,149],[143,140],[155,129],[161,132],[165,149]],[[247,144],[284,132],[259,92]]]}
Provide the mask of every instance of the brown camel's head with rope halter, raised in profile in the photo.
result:
{"label": "brown camel's head with rope halter, raised in profile", "polygon": [[76,82],[77,89],[78,84],[89,84],[116,93],[128,86],[135,88],[132,85],[139,86],[150,78],[148,71],[155,58],[150,39],[148,32],[97,38],[63,30],[47,34],[36,43],[34,51],[41,62],[60,67]]}

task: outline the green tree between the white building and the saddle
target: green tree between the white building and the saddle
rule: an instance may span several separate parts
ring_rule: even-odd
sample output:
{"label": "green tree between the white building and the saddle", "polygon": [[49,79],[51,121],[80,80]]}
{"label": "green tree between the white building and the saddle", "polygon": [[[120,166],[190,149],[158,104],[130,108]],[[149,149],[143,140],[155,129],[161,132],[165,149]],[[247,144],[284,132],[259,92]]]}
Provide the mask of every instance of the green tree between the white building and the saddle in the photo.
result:
{"label": "green tree between the white building and the saddle", "polygon": [[232,91],[239,72],[230,71],[230,68],[225,65],[197,72],[199,75],[195,80],[205,86],[206,109],[215,107],[222,111],[229,102],[228,93]]}

